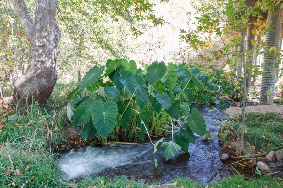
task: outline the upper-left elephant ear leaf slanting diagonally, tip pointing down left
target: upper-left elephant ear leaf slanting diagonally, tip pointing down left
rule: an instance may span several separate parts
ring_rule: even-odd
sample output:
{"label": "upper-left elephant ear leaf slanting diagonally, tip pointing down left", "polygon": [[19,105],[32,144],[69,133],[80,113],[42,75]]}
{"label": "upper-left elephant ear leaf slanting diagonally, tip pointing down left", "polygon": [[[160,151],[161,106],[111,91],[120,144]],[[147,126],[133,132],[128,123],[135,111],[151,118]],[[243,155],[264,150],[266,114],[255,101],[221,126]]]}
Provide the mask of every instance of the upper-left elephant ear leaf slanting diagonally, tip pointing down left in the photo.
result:
{"label": "upper-left elephant ear leaf slanting diagonally, tip pointing down left", "polygon": [[82,90],[85,87],[89,87],[95,84],[96,81],[99,80],[104,69],[105,66],[98,67],[97,65],[94,65],[94,67],[92,67],[81,80],[78,90]]}

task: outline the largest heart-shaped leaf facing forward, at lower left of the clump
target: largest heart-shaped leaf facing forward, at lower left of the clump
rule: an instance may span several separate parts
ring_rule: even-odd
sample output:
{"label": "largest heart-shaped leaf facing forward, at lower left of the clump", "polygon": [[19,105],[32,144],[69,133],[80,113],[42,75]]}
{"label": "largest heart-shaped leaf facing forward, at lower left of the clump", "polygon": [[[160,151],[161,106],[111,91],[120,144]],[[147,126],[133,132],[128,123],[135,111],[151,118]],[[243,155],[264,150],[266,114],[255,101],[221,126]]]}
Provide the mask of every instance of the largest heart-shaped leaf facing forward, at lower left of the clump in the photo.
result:
{"label": "largest heart-shaped leaf facing forward, at lower left of the clump", "polygon": [[92,121],[97,132],[103,136],[109,136],[115,128],[118,107],[114,101],[106,101],[104,104],[101,100],[92,103]]}

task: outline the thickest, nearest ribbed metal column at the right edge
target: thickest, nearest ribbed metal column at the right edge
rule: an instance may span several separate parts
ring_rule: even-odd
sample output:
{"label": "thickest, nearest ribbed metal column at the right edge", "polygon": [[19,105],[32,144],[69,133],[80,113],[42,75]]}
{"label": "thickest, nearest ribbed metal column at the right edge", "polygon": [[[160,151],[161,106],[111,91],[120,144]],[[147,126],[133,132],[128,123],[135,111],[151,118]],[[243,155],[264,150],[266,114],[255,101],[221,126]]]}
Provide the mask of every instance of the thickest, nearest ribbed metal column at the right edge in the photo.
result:
{"label": "thickest, nearest ribbed metal column at the right edge", "polygon": [[[279,49],[280,46],[280,35],[282,28],[282,19],[283,19],[283,9],[280,10],[281,6],[274,7],[274,13],[270,10],[268,11],[267,19],[271,21],[270,26],[274,31],[266,32],[265,42],[267,43],[267,47],[275,46],[276,49]],[[267,51],[265,51],[267,53]],[[276,68],[274,67],[275,59],[272,54],[267,54],[264,58],[264,67],[263,67],[263,75],[261,81],[261,95],[259,99],[260,105],[265,104],[273,104],[273,94],[274,94],[274,85],[275,85],[275,73]],[[267,95],[267,91],[271,90],[271,94]],[[268,101],[268,97],[270,98]]]}

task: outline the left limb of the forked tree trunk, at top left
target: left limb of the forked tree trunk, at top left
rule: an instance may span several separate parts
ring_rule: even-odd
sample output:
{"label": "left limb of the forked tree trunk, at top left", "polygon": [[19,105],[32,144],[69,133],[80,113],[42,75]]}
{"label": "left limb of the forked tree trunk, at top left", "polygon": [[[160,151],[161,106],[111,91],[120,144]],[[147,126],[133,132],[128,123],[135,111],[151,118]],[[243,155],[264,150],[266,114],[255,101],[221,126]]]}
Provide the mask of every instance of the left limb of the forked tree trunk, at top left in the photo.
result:
{"label": "left limb of the forked tree trunk, at top left", "polygon": [[34,29],[34,21],[31,18],[29,10],[27,9],[24,0],[12,0],[12,3],[17,12],[21,26],[24,29],[25,35],[30,39]]}

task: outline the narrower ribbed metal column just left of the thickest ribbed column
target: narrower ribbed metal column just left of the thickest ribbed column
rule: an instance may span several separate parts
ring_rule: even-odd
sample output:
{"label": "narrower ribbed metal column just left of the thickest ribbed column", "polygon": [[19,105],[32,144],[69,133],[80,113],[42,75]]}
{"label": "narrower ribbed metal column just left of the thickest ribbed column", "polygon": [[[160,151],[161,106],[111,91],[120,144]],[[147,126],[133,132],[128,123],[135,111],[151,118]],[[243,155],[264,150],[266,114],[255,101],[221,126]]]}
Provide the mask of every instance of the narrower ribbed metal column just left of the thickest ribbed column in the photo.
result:
{"label": "narrower ribbed metal column just left of the thickest ribbed column", "polygon": [[[253,63],[253,53],[254,51],[252,51],[254,45],[252,45],[252,40],[254,40],[254,35],[252,34],[252,29],[254,28],[254,25],[251,24],[250,27],[247,28],[247,47],[246,47],[246,50],[247,50],[247,54],[248,56],[246,57],[246,65],[252,65]],[[250,94],[251,92],[251,74],[252,74],[252,71],[250,69],[247,69],[246,68],[246,74],[247,74],[247,77],[246,77],[246,90],[247,90],[247,93]]]}

